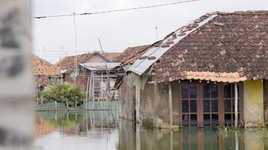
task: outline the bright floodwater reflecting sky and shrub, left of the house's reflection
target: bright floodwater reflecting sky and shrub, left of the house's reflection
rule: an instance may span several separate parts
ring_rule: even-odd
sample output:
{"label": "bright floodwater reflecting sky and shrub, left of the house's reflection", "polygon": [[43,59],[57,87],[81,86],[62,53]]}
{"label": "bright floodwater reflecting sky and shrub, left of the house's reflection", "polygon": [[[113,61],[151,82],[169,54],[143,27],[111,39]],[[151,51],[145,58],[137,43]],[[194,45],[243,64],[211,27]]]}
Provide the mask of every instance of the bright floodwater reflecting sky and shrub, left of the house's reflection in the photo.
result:
{"label": "bright floodwater reflecting sky and shrub, left of the house's reflection", "polygon": [[118,149],[117,111],[36,112],[34,149]]}

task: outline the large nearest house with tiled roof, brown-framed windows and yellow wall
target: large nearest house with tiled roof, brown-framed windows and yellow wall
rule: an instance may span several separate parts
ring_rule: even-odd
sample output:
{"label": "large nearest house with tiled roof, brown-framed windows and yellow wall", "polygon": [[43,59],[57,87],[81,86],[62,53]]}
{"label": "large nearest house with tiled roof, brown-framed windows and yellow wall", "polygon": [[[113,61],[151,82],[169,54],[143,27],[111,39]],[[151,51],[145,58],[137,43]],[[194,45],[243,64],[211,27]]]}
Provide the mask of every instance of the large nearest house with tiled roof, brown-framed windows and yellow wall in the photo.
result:
{"label": "large nearest house with tiled roof, brown-framed windows and yellow wall", "polygon": [[121,64],[119,115],[177,128],[234,126],[237,112],[264,126],[267,43],[268,11],[207,13]]}

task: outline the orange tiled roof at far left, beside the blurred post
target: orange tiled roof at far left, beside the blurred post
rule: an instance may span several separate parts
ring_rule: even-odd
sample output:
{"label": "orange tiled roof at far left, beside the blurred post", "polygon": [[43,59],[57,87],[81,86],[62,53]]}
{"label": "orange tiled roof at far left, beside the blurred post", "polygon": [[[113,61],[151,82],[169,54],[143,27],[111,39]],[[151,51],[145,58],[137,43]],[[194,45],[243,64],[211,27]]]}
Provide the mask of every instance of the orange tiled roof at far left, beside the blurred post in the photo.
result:
{"label": "orange tiled roof at far left, beside the blurred post", "polygon": [[59,68],[52,63],[34,55],[34,75],[59,76]]}

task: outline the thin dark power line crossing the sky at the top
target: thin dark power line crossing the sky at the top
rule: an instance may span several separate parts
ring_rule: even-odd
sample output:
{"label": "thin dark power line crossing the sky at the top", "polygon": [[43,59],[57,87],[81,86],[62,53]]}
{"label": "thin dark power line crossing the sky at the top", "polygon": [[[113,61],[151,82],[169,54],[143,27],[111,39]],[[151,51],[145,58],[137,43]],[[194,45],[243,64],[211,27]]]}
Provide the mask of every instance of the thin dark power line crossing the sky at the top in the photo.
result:
{"label": "thin dark power line crossing the sky at the top", "polygon": [[107,11],[101,11],[101,12],[84,12],[84,13],[78,13],[78,14],[66,14],[66,15],[48,15],[48,16],[38,16],[34,17],[36,19],[43,19],[47,17],[68,17],[68,16],[74,16],[74,15],[97,15],[97,14],[103,14],[103,13],[110,13],[110,12],[120,12],[120,11],[126,11],[126,10],[137,10],[137,9],[144,9],[144,8],[155,8],[155,7],[161,7],[161,6],[170,6],[175,5],[179,3],[189,3],[192,1],[200,1],[200,0],[188,0],[188,1],[179,1],[174,3],[164,3],[160,5],[154,5],[154,6],[142,6],[137,8],[125,8],[125,9],[119,9],[119,10],[107,10]]}

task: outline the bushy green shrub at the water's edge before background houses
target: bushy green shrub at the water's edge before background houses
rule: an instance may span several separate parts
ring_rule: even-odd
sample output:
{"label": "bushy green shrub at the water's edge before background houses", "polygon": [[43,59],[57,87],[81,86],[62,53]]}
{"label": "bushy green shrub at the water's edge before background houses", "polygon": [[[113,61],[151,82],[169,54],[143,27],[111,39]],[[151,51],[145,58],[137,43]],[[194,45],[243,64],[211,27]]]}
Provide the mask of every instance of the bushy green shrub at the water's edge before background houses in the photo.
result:
{"label": "bushy green shrub at the water's edge before background houses", "polygon": [[45,103],[64,103],[67,106],[82,105],[83,99],[86,97],[84,92],[81,92],[79,86],[74,86],[70,83],[59,83],[56,78],[53,78],[52,84],[47,85],[42,91],[42,96]]}

